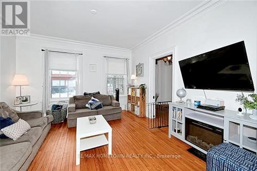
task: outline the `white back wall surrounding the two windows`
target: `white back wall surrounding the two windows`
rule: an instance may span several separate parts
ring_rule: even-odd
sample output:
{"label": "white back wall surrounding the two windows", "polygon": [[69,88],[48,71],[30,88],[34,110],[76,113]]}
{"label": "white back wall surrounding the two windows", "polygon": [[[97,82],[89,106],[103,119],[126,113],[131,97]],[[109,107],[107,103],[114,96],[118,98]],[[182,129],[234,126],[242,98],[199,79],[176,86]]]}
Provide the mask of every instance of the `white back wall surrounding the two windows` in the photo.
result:
{"label": "white back wall surrounding the two windows", "polygon": [[[31,101],[39,102],[32,107],[38,110],[42,107],[43,94],[43,52],[42,48],[79,51],[83,55],[82,91],[100,91],[104,89],[104,55],[131,58],[131,51],[104,46],[91,46],[83,43],[44,38],[41,36],[17,37],[16,39],[16,73],[27,75],[29,86],[24,87],[23,94],[30,95]],[[97,72],[89,72],[89,64],[97,64]],[[18,91],[17,91],[18,92]],[[126,104],[126,98],[120,98],[121,106]]]}

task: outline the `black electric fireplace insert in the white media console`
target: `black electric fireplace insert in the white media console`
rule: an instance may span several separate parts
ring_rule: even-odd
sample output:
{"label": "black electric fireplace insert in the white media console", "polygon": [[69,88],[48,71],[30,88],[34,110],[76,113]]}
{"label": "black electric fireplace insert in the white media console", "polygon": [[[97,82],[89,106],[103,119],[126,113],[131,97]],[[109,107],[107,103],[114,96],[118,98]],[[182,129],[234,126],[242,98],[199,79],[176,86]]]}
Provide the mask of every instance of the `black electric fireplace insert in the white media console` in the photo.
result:
{"label": "black electric fireplace insert in the white media console", "polygon": [[224,131],[203,122],[186,118],[186,140],[196,146],[209,150],[215,145],[223,143]]}

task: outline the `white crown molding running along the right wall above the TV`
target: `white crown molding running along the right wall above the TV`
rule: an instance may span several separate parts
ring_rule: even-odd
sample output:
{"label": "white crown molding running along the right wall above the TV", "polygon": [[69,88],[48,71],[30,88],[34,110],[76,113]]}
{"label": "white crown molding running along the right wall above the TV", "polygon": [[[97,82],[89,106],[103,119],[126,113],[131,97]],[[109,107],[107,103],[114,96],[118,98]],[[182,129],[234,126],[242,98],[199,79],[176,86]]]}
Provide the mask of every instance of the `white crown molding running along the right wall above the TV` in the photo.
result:
{"label": "white crown molding running along the right wall above the TV", "polygon": [[179,18],[177,18],[177,20],[175,20],[174,22],[161,28],[160,30],[156,31],[155,33],[153,33],[152,35],[150,35],[149,37],[144,39],[142,42],[133,46],[131,48],[131,50],[136,50],[136,49],[140,48],[141,46],[146,45],[146,44],[150,43],[151,41],[156,40],[162,34],[170,31],[171,29],[174,29],[177,26],[180,26],[181,24],[185,24],[185,23],[188,23],[188,22],[194,20],[194,18],[199,17],[201,14],[204,14],[205,12],[223,4],[224,2],[227,2],[227,0],[217,0],[217,1],[208,0],[208,1],[201,3],[200,5],[196,6],[192,10],[190,10],[189,12],[187,12],[187,13],[183,14],[182,16],[180,16]]}

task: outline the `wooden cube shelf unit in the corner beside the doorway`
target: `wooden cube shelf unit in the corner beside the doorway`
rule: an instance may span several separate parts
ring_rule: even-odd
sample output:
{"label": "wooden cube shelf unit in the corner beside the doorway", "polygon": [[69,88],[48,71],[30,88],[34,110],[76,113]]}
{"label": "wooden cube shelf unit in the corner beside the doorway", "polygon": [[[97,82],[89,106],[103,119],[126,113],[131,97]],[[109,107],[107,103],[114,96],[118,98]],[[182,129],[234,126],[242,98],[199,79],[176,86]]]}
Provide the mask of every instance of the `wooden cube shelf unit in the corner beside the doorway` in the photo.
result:
{"label": "wooden cube shelf unit in the corner beside the doorway", "polygon": [[142,90],[139,87],[127,87],[127,111],[138,117],[145,116],[145,99],[142,99]]}

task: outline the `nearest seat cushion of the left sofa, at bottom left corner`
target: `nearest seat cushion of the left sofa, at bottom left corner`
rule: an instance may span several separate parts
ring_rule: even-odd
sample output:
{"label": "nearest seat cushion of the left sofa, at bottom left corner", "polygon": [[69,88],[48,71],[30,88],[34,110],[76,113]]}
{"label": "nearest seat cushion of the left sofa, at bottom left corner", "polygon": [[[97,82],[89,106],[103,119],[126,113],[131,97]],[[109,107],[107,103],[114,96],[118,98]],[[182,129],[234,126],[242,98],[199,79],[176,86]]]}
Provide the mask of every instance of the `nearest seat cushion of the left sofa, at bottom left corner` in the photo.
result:
{"label": "nearest seat cushion of the left sofa, at bottom left corner", "polygon": [[0,147],[1,170],[19,170],[32,152],[29,142]]}

